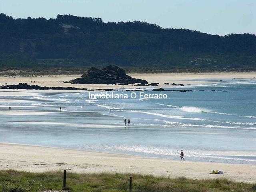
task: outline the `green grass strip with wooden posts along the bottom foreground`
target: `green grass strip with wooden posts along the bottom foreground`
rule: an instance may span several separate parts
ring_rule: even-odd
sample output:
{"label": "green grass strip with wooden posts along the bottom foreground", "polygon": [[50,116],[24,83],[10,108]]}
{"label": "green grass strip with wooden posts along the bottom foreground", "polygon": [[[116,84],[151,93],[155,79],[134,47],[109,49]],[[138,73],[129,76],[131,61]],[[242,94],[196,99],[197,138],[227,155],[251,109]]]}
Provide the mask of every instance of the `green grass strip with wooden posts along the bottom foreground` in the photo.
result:
{"label": "green grass strip with wooden posts along the bottom foreground", "polygon": [[[67,172],[67,189],[74,192],[127,192],[128,174],[77,174]],[[62,172],[31,173],[0,171],[0,192],[43,192],[62,190]],[[132,174],[133,192],[256,192],[256,184],[227,179],[192,180]]]}

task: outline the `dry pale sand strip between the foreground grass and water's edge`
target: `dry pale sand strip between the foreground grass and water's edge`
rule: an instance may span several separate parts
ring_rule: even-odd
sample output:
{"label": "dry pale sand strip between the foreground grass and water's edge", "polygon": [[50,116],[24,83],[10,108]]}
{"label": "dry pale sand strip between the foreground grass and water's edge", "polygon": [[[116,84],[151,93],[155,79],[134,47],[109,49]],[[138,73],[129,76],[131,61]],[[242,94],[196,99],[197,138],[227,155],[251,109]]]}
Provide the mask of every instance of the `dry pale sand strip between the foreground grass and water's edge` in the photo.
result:
{"label": "dry pale sand strip between the foreground grass and water's edge", "polygon": [[[0,144],[0,169],[31,172],[68,170],[86,173],[138,173],[154,176],[185,176],[192,179],[228,178],[238,182],[256,181],[256,166],[150,159],[138,156],[47,148],[20,144]],[[224,175],[210,174],[220,169]]]}

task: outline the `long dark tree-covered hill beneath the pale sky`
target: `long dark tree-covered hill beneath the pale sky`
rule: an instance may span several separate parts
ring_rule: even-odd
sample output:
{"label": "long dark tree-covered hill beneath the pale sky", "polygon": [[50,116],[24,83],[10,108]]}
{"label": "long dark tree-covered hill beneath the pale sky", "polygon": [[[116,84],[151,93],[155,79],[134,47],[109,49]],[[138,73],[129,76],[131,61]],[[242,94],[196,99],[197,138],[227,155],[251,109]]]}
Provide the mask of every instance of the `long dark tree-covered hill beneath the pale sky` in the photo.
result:
{"label": "long dark tree-covered hill beneath the pale sky", "polygon": [[140,21],[104,23],[72,15],[47,20],[0,14],[0,68],[108,64],[256,69],[256,36],[218,36]]}

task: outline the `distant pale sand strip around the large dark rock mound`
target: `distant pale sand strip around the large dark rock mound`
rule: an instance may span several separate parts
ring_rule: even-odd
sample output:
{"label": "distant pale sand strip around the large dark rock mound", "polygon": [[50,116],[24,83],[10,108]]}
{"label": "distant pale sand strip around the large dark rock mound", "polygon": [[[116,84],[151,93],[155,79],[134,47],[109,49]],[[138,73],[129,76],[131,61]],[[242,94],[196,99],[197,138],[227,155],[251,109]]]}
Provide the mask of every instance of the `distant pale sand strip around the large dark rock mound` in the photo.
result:
{"label": "distant pale sand strip around the large dark rock mound", "polygon": [[[222,79],[225,82],[227,78],[247,78],[252,79],[256,76],[256,72],[220,72],[220,73],[157,73],[157,74],[129,74],[134,78],[145,79],[149,83],[158,82],[159,86],[172,86],[172,83],[176,84],[206,84],[219,82],[214,79]],[[120,85],[104,85],[104,84],[70,84],[63,83],[81,77],[81,75],[57,75],[57,76],[37,76],[37,77],[6,77],[0,76],[0,85],[7,84],[18,84],[27,83],[30,85],[36,84],[38,86],[61,86],[61,87],[76,87],[76,88],[87,88],[87,89],[109,89],[109,88],[131,88],[128,86]],[[207,79],[207,80],[206,80]],[[31,83],[32,80],[32,83]],[[36,81],[36,83],[34,83]],[[169,83],[170,85],[164,85],[164,83]],[[158,87],[159,87],[158,86]],[[134,88],[140,88],[136,86]]]}

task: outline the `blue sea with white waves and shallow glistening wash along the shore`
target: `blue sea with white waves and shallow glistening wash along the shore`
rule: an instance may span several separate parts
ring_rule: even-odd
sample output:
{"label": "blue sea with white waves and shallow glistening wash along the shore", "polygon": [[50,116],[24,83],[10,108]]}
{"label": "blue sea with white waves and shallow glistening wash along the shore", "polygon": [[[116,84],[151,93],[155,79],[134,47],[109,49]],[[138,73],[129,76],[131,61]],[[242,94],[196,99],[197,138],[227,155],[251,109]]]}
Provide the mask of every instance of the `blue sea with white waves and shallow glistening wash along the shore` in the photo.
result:
{"label": "blue sea with white waves and shallow glistening wash along the shore", "polygon": [[[140,91],[159,94],[151,89]],[[177,160],[182,149],[191,161],[256,163],[256,80],[165,89],[166,99],[96,100],[88,91],[1,91],[0,142]],[[173,91],[184,89],[190,91]]]}

